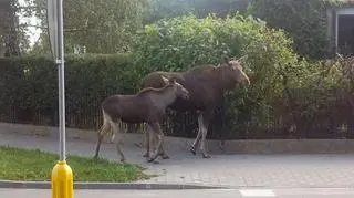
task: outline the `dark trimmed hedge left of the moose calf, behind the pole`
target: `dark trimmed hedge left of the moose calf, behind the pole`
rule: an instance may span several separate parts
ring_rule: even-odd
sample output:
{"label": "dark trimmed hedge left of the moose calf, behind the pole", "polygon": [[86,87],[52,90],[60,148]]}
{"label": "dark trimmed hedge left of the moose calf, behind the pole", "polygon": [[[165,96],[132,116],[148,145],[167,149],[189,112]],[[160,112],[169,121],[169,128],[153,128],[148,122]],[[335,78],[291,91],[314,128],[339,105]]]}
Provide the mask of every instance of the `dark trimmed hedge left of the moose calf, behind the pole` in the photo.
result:
{"label": "dark trimmed hedge left of the moose calf, behind the pole", "polygon": [[[44,56],[1,60],[1,108],[4,119],[55,124],[58,114],[58,71]],[[87,54],[65,59],[67,124],[97,126],[95,116],[102,100],[113,93],[136,92],[136,74],[131,55]],[[45,121],[48,119],[48,121]],[[45,123],[50,122],[50,123]],[[54,122],[54,123],[53,123]]]}

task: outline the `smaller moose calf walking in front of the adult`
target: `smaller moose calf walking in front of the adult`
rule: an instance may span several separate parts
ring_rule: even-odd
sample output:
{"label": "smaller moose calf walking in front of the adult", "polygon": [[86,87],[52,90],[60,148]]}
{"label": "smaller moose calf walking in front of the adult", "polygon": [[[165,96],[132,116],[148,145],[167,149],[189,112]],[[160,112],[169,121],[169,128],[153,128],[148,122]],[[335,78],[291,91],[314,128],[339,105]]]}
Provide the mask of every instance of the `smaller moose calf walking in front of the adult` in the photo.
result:
{"label": "smaller moose calf walking in front of the adult", "polygon": [[[139,91],[136,95],[121,95],[115,94],[106,97],[101,105],[103,113],[103,125],[97,133],[97,145],[94,157],[98,157],[101,142],[104,135],[111,135],[112,142],[115,134],[118,133],[118,123],[125,122],[131,124],[147,123],[149,131],[155,132],[158,136],[156,146],[156,154],[148,159],[154,161],[158,154],[165,153],[162,147],[164,134],[160,128],[160,122],[165,118],[166,107],[180,97],[188,100],[188,91],[177,83],[175,80],[159,76],[163,82],[163,87],[154,88],[146,87]],[[117,135],[116,149],[121,155],[121,161],[125,160],[124,154],[121,149],[121,136]]]}

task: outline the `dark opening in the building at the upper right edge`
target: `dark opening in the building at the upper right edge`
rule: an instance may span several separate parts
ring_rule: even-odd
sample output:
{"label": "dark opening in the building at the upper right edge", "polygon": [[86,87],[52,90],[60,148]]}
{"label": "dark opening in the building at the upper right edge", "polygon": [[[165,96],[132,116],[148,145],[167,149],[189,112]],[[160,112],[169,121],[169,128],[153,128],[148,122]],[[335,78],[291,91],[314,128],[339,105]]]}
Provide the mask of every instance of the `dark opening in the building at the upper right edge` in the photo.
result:
{"label": "dark opening in the building at the upper right edge", "polygon": [[354,54],[354,14],[339,15],[339,52]]}

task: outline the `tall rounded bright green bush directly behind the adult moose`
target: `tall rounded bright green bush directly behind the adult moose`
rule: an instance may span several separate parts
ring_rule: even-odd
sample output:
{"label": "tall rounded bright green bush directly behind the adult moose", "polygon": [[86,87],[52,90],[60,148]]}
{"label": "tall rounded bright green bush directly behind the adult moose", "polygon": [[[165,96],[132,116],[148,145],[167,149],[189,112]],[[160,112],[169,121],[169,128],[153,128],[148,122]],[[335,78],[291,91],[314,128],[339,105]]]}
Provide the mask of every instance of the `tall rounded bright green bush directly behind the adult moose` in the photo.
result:
{"label": "tall rounded bright green bush directly behind the adult moose", "polygon": [[225,58],[247,54],[244,70],[252,86],[231,94],[227,104],[228,125],[238,132],[247,131],[250,123],[253,126],[269,123],[272,102],[283,94],[282,74],[295,82],[306,70],[283,31],[240,14],[226,19],[187,15],[160,20],[146,25],[135,41],[134,65],[140,75],[217,64]]}

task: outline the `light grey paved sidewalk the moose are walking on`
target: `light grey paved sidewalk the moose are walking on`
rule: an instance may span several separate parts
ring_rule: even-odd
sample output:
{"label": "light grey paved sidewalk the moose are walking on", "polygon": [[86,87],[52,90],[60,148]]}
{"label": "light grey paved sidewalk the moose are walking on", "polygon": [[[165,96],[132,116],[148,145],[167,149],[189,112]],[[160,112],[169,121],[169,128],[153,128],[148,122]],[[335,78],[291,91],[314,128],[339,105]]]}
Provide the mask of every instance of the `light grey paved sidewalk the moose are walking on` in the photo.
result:
{"label": "light grey paved sidewalk the moose are walking on", "polygon": [[[168,144],[168,139],[165,140]],[[10,145],[58,152],[58,139],[0,132],[0,145]],[[95,144],[69,139],[69,154],[93,156]],[[117,159],[115,146],[102,145],[101,156]],[[159,177],[148,183],[194,183],[229,187],[354,187],[354,155],[212,155],[202,159],[188,148],[167,152],[171,159],[147,164],[143,149],[133,144],[123,145],[128,163],[148,168]],[[70,164],[70,161],[69,161]],[[145,181],[139,181],[145,183]]]}

